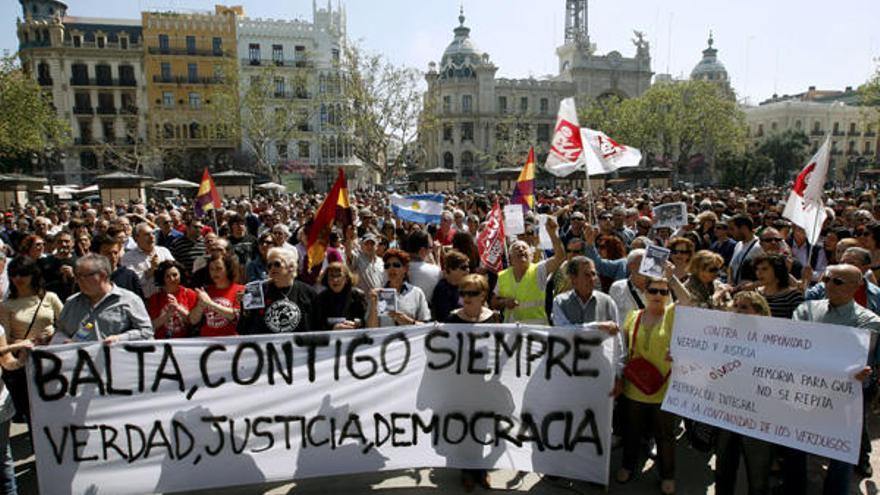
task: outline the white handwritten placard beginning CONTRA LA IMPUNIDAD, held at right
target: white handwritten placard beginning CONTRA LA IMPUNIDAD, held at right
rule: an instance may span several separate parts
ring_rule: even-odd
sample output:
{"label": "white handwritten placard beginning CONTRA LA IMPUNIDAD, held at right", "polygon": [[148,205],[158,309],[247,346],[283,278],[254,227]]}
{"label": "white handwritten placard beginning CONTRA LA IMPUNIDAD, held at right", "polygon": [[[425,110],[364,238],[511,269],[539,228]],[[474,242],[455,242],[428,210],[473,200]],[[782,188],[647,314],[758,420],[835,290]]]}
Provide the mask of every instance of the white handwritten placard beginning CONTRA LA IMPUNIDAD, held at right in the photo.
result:
{"label": "white handwritten placard beginning CONTRA LA IMPUNIDAD, held at right", "polygon": [[679,307],[672,335],[663,410],[858,461],[867,330]]}

